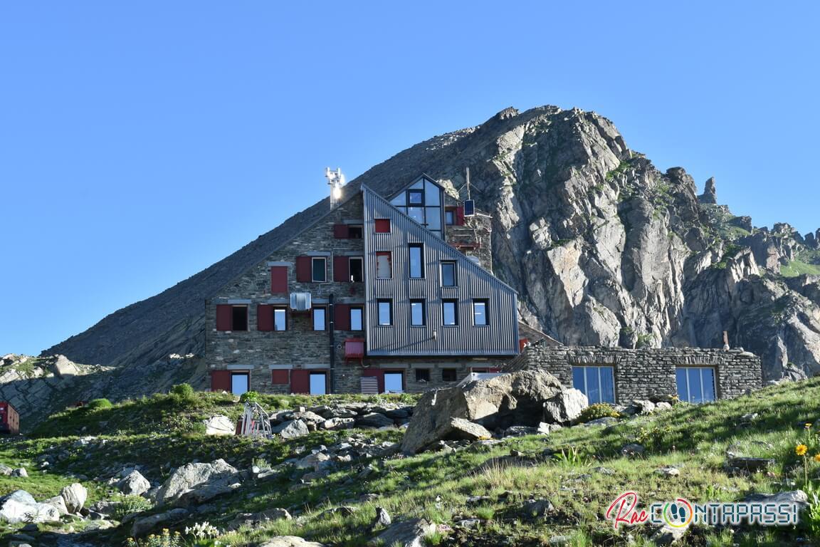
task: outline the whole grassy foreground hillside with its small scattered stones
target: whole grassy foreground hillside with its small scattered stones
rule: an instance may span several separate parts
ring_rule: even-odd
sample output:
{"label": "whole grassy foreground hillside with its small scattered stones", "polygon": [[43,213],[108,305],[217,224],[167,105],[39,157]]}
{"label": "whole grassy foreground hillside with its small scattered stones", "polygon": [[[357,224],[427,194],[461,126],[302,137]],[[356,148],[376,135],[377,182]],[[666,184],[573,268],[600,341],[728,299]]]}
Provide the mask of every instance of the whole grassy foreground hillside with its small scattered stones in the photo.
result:
{"label": "whole grassy foreground hillside with its small scattered stones", "polygon": [[[387,412],[397,403],[412,403],[407,397],[257,400],[271,413],[338,413],[344,405]],[[626,490],[635,491],[644,506],[677,497],[729,502],[754,493],[803,490],[812,505],[797,527],[694,526],[676,545],[820,543],[820,503],[814,497],[820,493],[820,462],[814,458],[820,453],[820,379],[734,400],[677,403],[549,435],[449,442],[440,451],[415,456],[397,452],[403,432],[395,427],[312,431],[289,440],[203,434],[204,418],[217,413],[235,418],[241,409],[228,394],[176,389],[59,413],[29,438],[0,444],[0,463],[28,469],[27,477],[0,476],[0,493],[23,489],[46,499],[79,481],[89,491],[86,506],[108,508],[99,520],[66,516],[62,522],[30,525],[22,533],[36,545],[125,545],[135,522],[159,514],[165,516],[153,529],[159,536],[149,539],[149,531],[137,526],[140,534],[130,545],[219,541],[238,547],[262,545],[275,536],[366,545],[397,523],[422,519],[429,523],[427,545],[581,546],[655,545],[649,539],[652,526],[616,531],[604,518]],[[801,444],[805,451],[795,451]],[[625,450],[627,445],[633,446]],[[744,457],[772,461],[757,472],[730,465],[730,458]],[[230,480],[238,485],[203,502],[157,507],[150,493],[122,496],[114,480],[123,468],[139,469],[156,493],[157,485],[186,464],[219,459],[236,468]],[[177,513],[168,517],[171,507]],[[280,509],[289,517],[277,513]],[[377,522],[385,513],[389,525]],[[196,540],[191,528],[197,524],[210,531],[204,535],[218,536]],[[3,525],[3,538],[21,533],[21,526]],[[169,530],[165,540],[163,527]]]}

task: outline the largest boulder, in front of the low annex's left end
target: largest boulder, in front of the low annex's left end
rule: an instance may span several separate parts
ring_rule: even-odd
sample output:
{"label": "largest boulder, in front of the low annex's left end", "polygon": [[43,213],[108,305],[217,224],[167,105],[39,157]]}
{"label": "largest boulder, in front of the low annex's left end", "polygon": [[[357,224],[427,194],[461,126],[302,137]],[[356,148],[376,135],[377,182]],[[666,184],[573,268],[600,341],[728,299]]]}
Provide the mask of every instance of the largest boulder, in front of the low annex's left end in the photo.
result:
{"label": "largest boulder, in front of the low annex's left end", "polygon": [[561,382],[549,372],[524,370],[428,391],[413,409],[401,448],[415,454],[444,439],[452,431],[453,417],[480,423],[490,430],[537,427],[542,421],[544,402],[562,390]]}

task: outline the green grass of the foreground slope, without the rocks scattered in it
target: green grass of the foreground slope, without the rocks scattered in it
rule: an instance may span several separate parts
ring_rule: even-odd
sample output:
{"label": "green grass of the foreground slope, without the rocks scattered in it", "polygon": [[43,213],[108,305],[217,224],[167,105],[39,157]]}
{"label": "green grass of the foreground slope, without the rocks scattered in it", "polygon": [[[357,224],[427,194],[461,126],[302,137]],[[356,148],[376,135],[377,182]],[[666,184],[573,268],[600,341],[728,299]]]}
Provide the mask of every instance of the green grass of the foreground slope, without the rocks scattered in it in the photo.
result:
{"label": "green grass of the foreground slope, without the rocks scattered in it", "polygon": [[[291,403],[276,399],[284,406]],[[266,401],[271,402],[271,399]],[[253,459],[276,464],[293,454],[298,445],[309,448],[344,439],[351,432],[314,433],[310,437],[282,442],[254,442],[235,437],[205,438],[185,432],[195,428],[190,420],[219,409],[236,415],[239,405],[230,396],[203,394],[196,402],[181,403],[168,397],[154,397],[99,411],[72,411],[57,415],[43,424],[37,433],[49,435],[33,440],[17,440],[0,446],[0,461],[7,464],[31,462],[50,449],[66,449],[71,456],[57,463],[48,474],[30,470],[29,479],[3,477],[2,490],[25,488],[35,495],[55,495],[59,487],[72,481],[71,473],[96,476],[101,467],[125,467],[139,463],[147,467],[146,475],[156,481],[166,476],[168,468],[194,458],[210,461],[225,458],[237,467],[248,467]],[[162,414],[165,413],[165,417]],[[740,417],[758,413],[749,426],[740,426]],[[152,428],[126,416],[157,417]],[[173,417],[173,418],[171,418]],[[445,526],[461,517],[483,520],[479,531],[447,531],[430,538],[441,545],[549,545],[553,536],[572,536],[571,545],[626,545],[631,532],[637,545],[649,528],[641,526],[616,534],[603,520],[603,513],[614,497],[624,490],[635,490],[645,504],[678,496],[692,501],[741,499],[751,491],[792,490],[802,485],[803,467],[794,453],[795,444],[807,438],[805,422],[820,418],[820,379],[782,385],[757,394],[701,406],[678,405],[671,411],[649,417],[619,422],[617,426],[572,427],[549,437],[532,436],[504,440],[493,446],[473,444],[453,454],[420,454],[411,458],[394,458],[374,463],[376,472],[367,479],[357,478],[362,463],[340,469],[311,487],[290,491],[291,474],[280,479],[253,485],[247,483],[239,492],[217,500],[216,510],[203,514],[207,520],[224,526],[235,513],[284,507],[301,511],[302,517],[274,522],[254,531],[241,531],[222,538],[230,545],[254,545],[254,542],[276,534],[309,536],[332,545],[363,545],[372,534],[367,531],[379,505],[388,509],[394,520],[424,516]],[[93,450],[72,448],[80,424],[86,432],[99,422],[108,422],[107,444]],[[186,425],[187,421],[187,425]],[[80,426],[81,427],[81,426]],[[115,428],[116,429],[112,429]],[[147,431],[151,429],[152,431]],[[368,435],[370,435],[368,433]],[[380,440],[399,440],[400,433],[380,433]],[[620,454],[630,442],[644,444],[645,458],[629,460]],[[728,476],[723,470],[725,451],[731,445],[736,453],[775,458],[772,472],[754,476]],[[820,452],[813,438],[809,455]],[[49,448],[51,447],[51,448]],[[55,448],[56,447],[56,448]],[[505,456],[511,449],[524,454],[518,465],[492,464],[478,467],[490,458]],[[549,458],[544,449],[566,457]],[[89,457],[88,454],[91,454]],[[665,478],[654,474],[658,467],[674,465],[681,476]],[[605,474],[600,467],[611,470]],[[816,476],[820,463],[809,462]],[[31,469],[31,467],[30,467]],[[92,497],[112,496],[106,486],[84,481]],[[499,500],[502,492],[511,492]],[[376,502],[355,504],[358,511],[349,517],[321,516],[326,508],[349,504],[366,493],[380,494]],[[478,507],[467,506],[467,496],[486,495],[490,500]],[[557,511],[546,521],[531,522],[520,511],[522,499],[545,497]],[[191,524],[193,522],[188,522]],[[729,531],[690,530],[685,545],[782,545],[807,530]],[[505,539],[506,538],[506,539]],[[107,537],[108,545],[119,545],[123,536]],[[806,544],[803,544],[806,545]]]}

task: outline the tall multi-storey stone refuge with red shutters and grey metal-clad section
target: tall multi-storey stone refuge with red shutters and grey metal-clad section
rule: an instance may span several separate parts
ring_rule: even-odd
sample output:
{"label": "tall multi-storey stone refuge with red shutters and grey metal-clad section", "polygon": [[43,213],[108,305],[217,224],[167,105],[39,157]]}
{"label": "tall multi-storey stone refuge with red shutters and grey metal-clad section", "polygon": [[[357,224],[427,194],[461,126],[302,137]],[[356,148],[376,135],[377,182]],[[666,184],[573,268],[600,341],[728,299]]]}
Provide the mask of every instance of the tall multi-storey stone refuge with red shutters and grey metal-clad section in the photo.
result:
{"label": "tall multi-storey stone refuge with red shutters and grey metal-clad section", "polygon": [[214,390],[376,393],[454,385],[519,352],[490,225],[430,177],[362,185],[206,303]]}

